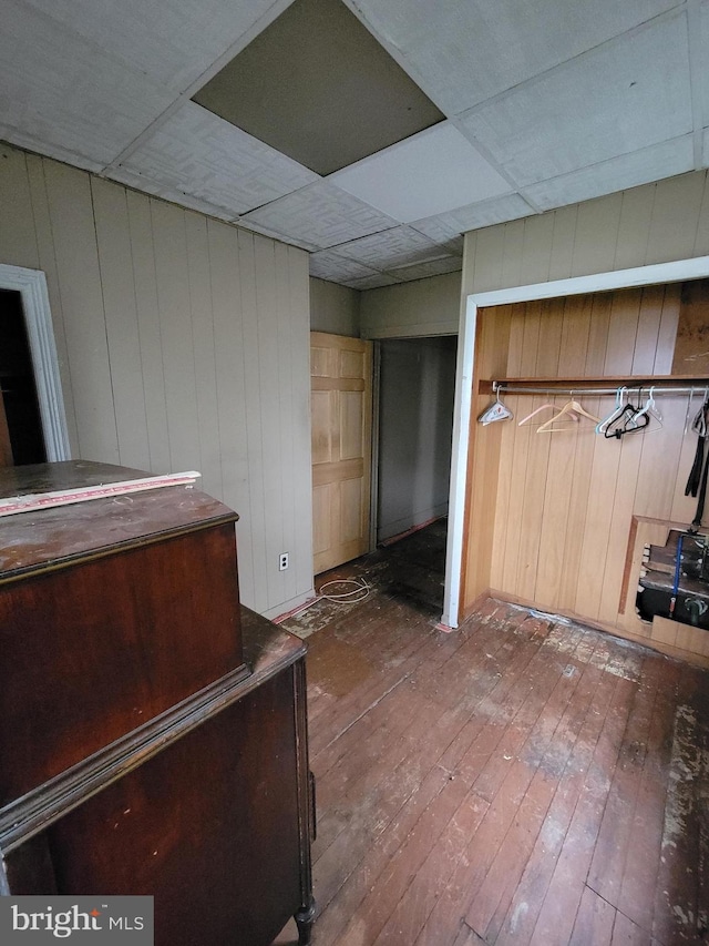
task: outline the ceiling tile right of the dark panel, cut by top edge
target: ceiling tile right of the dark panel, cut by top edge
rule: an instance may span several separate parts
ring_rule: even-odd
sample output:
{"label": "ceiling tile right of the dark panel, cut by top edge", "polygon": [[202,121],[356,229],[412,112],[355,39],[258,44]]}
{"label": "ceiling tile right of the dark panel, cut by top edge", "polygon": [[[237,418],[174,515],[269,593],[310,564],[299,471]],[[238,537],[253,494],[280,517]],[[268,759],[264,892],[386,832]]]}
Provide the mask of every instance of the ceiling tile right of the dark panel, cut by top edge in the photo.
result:
{"label": "ceiling tile right of the dark panel, cut by top edge", "polygon": [[677,6],[677,0],[346,2],[449,116]]}

